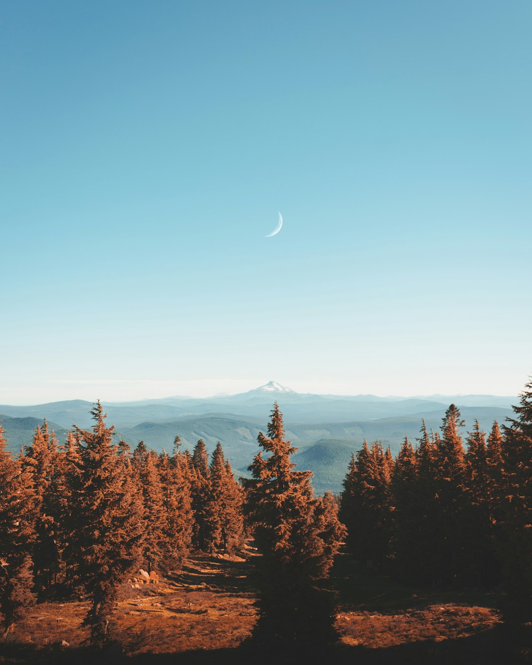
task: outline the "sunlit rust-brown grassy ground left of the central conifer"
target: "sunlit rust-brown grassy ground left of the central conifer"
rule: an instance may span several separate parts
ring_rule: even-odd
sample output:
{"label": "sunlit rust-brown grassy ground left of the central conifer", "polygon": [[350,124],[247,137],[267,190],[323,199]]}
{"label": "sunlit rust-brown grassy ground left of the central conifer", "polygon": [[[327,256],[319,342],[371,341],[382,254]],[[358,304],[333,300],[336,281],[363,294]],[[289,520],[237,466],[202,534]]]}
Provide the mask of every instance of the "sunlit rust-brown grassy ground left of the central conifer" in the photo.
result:
{"label": "sunlit rust-brown grassy ground left of the central conifer", "polygon": [[[125,584],[110,620],[110,637],[122,644],[126,656],[235,648],[255,622],[248,569],[241,557],[192,557],[183,571],[158,585],[132,589]],[[88,630],[80,624],[87,610],[86,602],[37,604],[5,645],[12,655],[2,656],[0,643],[0,662],[24,662],[16,655],[17,646],[24,656],[32,647],[37,652],[45,647],[41,655],[53,651],[66,659],[67,652],[86,643]]]}

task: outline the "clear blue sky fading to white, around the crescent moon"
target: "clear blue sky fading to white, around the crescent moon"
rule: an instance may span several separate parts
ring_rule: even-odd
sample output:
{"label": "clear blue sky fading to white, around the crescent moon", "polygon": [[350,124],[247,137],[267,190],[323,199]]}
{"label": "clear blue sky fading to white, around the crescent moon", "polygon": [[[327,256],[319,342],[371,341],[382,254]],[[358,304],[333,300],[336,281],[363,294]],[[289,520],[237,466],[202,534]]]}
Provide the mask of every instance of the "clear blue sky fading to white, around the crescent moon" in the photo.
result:
{"label": "clear blue sky fading to white, around the crescent moon", "polygon": [[0,403],[523,388],[529,0],[1,23]]}

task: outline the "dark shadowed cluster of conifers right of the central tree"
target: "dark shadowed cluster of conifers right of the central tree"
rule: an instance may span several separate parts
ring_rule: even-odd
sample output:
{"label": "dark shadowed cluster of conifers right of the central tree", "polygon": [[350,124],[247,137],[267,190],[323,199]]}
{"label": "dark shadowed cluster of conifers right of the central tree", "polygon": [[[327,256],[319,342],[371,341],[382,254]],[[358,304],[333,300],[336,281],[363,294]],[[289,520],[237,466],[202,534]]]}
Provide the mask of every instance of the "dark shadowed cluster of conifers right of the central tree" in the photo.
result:
{"label": "dark shadowed cluster of conifers right of the central tree", "polygon": [[[460,410],[441,432],[424,421],[396,459],[380,442],[353,454],[340,519],[346,546],[368,567],[413,585],[505,591],[515,644],[531,644],[532,383],[515,418],[489,433],[475,422],[465,441]],[[529,651],[532,655],[532,650]]]}

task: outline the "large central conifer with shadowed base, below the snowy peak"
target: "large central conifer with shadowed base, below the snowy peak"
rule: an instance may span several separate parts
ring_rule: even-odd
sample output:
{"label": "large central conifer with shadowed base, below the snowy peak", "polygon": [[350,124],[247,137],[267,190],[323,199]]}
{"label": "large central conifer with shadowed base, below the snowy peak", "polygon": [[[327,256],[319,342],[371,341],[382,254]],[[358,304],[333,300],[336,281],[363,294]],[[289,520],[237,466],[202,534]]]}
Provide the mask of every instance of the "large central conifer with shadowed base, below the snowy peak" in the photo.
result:
{"label": "large central conifer with shadowed base, below the snowy peak", "polygon": [[334,608],[319,580],[327,576],[343,528],[326,499],[315,499],[311,471],[295,471],[275,402],[268,436],[259,432],[259,452],[249,467],[247,511],[261,553],[257,561],[255,638],[276,646],[316,646],[334,638]]}

